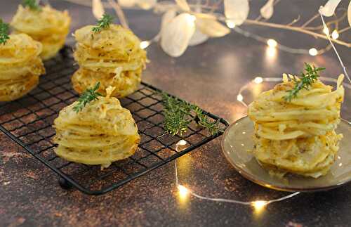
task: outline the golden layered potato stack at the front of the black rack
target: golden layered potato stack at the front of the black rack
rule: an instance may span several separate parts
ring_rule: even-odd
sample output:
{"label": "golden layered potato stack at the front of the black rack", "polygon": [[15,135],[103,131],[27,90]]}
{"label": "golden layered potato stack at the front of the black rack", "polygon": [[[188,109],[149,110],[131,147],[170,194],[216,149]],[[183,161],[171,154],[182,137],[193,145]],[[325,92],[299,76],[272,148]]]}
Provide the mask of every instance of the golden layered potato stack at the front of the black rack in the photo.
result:
{"label": "golden layered potato stack at the front of the black rack", "polygon": [[122,108],[117,98],[99,97],[80,112],[74,111],[77,102],[60,111],[55,119],[55,153],[72,162],[101,164],[109,167],[117,160],[135,153],[140,136],[129,110]]}

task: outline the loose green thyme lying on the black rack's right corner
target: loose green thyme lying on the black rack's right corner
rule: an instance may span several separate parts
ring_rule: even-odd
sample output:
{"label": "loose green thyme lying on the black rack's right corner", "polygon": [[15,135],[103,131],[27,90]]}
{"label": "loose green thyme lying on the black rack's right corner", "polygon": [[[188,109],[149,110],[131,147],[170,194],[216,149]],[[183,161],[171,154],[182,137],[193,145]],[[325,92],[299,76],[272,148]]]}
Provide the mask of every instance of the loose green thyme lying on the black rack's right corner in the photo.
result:
{"label": "loose green thyme lying on the black rack's right corner", "polygon": [[173,98],[166,93],[161,93],[161,96],[164,105],[164,129],[168,134],[182,136],[193,120],[200,127],[208,129],[211,135],[216,135],[220,131],[218,122],[211,122],[197,105]]}

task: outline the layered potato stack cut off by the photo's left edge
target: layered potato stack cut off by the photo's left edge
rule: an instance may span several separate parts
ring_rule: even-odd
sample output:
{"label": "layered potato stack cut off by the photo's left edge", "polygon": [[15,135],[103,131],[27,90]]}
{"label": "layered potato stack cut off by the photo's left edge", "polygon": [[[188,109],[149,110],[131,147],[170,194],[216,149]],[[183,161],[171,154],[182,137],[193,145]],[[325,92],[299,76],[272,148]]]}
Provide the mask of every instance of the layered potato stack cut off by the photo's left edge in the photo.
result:
{"label": "layered potato stack cut off by the photo's left edge", "polygon": [[42,45],[27,34],[11,34],[0,44],[0,101],[11,101],[29,93],[45,73],[39,57]]}

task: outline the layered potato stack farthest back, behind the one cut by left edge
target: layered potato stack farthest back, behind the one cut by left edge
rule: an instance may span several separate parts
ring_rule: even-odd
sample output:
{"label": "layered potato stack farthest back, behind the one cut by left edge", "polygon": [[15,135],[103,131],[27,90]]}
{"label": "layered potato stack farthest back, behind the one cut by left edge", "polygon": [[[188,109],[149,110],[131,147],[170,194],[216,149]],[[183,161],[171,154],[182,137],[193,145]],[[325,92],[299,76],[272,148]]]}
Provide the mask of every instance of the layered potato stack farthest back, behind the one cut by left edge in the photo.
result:
{"label": "layered potato stack farthest back, behind the one cut by left edge", "polygon": [[44,6],[41,11],[18,6],[11,26],[15,33],[28,34],[43,44],[41,58],[47,60],[56,56],[65,44],[71,18],[67,11],[57,11],[51,6]]}

